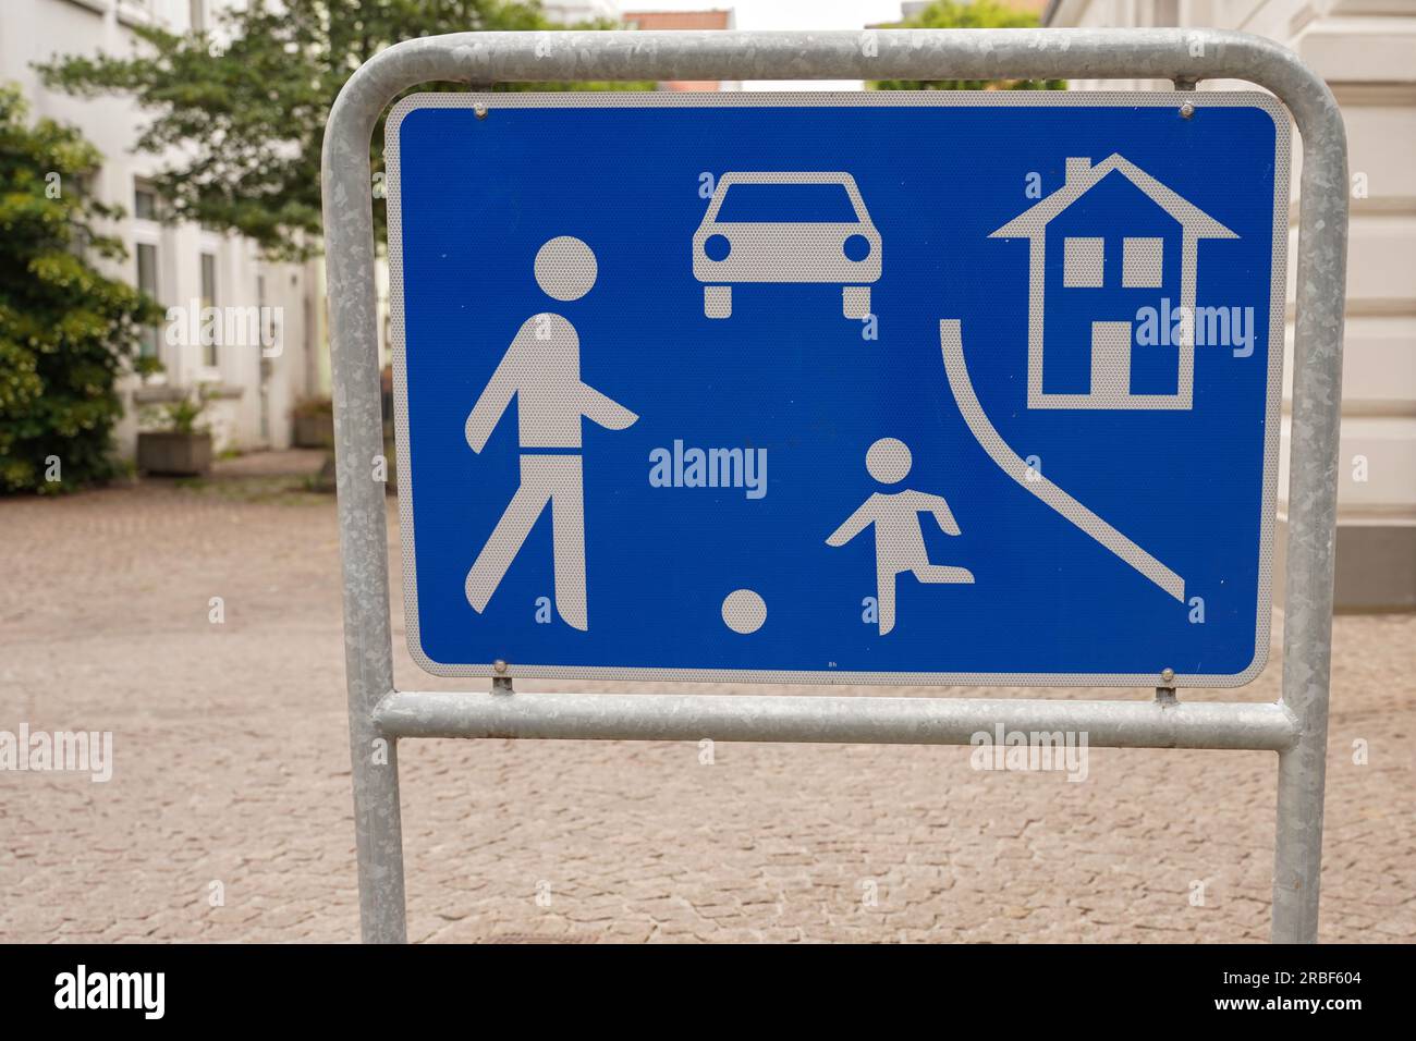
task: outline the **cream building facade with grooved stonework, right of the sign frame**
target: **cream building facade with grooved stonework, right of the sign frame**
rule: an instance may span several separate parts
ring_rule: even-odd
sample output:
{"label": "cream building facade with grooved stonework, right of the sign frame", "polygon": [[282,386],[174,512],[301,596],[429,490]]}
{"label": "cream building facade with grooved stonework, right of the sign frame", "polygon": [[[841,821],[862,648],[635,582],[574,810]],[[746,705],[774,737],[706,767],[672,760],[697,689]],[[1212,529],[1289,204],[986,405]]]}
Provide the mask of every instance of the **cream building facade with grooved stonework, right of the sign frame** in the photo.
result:
{"label": "cream building facade with grooved stonework, right of the sign frame", "polygon": [[[1331,86],[1347,122],[1352,177],[1337,602],[1347,609],[1416,608],[1416,1],[1051,0],[1044,24],[1253,33],[1297,52]],[[1165,81],[1070,81],[1069,86],[1170,89]],[[1199,85],[1245,88],[1252,85]],[[1297,133],[1293,153],[1280,551],[1293,388]],[[1281,582],[1281,559],[1276,576]]]}

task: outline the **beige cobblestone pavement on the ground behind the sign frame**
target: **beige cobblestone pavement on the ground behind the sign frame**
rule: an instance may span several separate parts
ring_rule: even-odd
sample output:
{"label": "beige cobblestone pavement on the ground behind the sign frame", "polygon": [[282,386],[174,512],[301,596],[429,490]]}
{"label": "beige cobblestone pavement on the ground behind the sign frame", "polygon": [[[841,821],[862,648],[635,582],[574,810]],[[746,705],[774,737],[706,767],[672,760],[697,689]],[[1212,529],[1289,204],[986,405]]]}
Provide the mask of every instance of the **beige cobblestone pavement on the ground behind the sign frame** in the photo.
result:
{"label": "beige cobblestone pavement on the ground behind the sign frame", "polygon": [[[0,729],[115,742],[108,783],[0,772],[0,940],[357,938],[333,501],[229,482],[3,501],[0,564]],[[401,613],[401,683],[453,688],[396,646]],[[1416,939],[1413,673],[1416,619],[1337,620],[1325,940]],[[1270,664],[1238,695],[1277,684]],[[1085,783],[974,772],[966,748],[401,759],[416,940],[1267,935],[1270,753],[1092,749]]]}

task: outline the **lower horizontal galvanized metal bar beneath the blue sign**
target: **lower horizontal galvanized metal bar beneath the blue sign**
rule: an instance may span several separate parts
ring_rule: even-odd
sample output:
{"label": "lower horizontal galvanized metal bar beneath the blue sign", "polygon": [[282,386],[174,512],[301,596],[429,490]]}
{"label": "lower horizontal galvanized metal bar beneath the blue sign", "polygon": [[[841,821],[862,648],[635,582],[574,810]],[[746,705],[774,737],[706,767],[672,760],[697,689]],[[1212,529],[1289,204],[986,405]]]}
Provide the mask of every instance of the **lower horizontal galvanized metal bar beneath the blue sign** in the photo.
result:
{"label": "lower horizontal galvanized metal bar beneath the blue sign", "polygon": [[1097,748],[1279,752],[1297,739],[1293,715],[1266,701],[394,691],[374,710],[374,724],[392,738],[967,745],[1001,725],[1008,732],[1086,734]]}

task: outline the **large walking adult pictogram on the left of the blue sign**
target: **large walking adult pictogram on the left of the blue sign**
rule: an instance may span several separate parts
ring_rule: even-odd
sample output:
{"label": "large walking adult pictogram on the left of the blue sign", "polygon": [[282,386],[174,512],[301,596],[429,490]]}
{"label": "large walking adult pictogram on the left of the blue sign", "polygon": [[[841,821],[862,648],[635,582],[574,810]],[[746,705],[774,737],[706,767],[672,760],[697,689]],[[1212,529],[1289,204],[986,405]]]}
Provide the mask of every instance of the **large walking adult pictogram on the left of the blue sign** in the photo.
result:
{"label": "large walking adult pictogram on the left of the blue sign", "polygon": [[[578,300],[596,276],[595,254],[569,235],[537,252],[535,279],[556,300]],[[521,326],[491,381],[467,416],[467,445],[481,452],[503,412],[517,399],[521,486],[476,562],[466,593],[481,613],[537,518],[551,504],[555,609],[572,629],[589,629],[585,593],[585,487],[581,418],[623,431],[639,415],[581,382],[581,340],[559,314],[534,314]]]}

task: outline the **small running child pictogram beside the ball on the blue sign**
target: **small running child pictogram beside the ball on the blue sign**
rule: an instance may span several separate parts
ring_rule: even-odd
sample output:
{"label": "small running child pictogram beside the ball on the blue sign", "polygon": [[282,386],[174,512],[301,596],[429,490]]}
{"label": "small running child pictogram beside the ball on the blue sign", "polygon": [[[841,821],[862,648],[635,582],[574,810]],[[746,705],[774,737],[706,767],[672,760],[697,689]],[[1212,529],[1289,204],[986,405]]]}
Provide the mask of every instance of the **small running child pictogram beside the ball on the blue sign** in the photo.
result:
{"label": "small running child pictogram beside the ball on the blue sign", "polygon": [[[865,469],[881,484],[905,480],[912,462],[909,446],[895,438],[881,438],[865,452]],[[871,524],[875,525],[875,599],[879,605],[881,636],[895,627],[895,578],[901,572],[909,571],[920,582],[974,581],[967,568],[929,562],[919,521],[922,513],[932,514],[944,534],[960,534],[959,523],[942,496],[905,489],[877,491],[826,540],[827,545],[845,545]]]}

